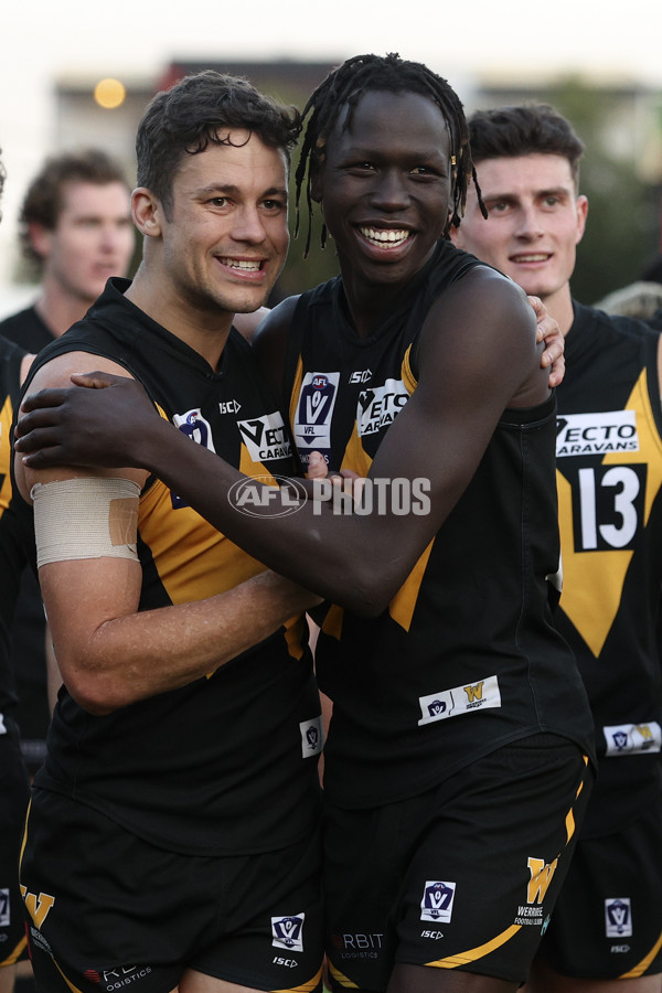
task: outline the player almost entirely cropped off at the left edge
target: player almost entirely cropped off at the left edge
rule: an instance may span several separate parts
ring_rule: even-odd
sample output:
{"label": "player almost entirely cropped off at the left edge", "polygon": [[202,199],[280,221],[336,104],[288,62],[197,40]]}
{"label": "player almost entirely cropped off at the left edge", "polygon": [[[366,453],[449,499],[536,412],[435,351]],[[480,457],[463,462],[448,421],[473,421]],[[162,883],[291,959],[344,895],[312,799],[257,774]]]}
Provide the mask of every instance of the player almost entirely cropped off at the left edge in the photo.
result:
{"label": "player almost entirely cropped off at the left edge", "polygon": [[[0,196],[4,184],[0,162]],[[1,216],[1,215],[0,215]],[[26,957],[19,893],[19,851],[30,781],[19,743],[17,693],[10,665],[9,628],[29,543],[11,506],[10,428],[32,355],[0,337],[0,993],[12,993],[15,964]]]}

